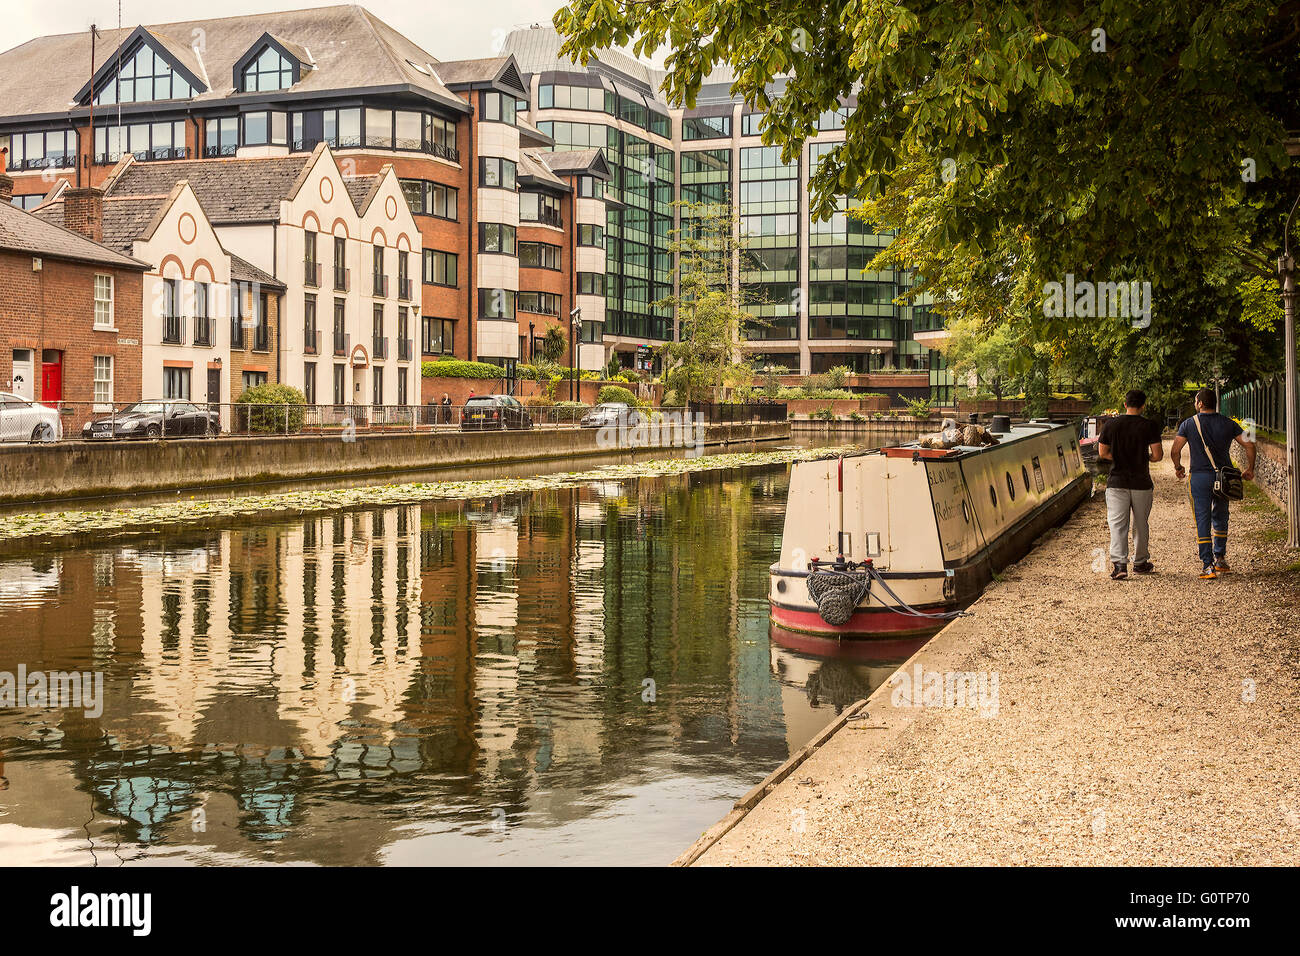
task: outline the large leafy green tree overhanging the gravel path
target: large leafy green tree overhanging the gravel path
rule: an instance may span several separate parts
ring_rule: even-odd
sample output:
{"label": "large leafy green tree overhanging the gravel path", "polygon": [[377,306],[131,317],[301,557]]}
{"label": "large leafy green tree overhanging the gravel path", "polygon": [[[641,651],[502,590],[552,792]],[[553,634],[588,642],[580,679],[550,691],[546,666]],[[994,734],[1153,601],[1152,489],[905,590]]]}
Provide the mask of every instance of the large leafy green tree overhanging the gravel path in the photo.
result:
{"label": "large leafy green tree overhanging the gravel path", "polygon": [[[814,215],[868,199],[863,215],[897,229],[878,263],[915,268],[911,294],[950,321],[1008,324],[1050,360],[1104,347],[1075,369],[1100,392],[1144,355],[1138,371],[1173,401],[1209,325],[1226,328],[1239,377],[1280,364],[1256,320],[1275,306],[1270,263],[1300,193],[1284,148],[1300,126],[1296,4],[572,0],[555,26],[582,60],[671,47],[679,105],[731,68],[786,160],[823,111],[870,104],[811,178]],[[1046,286],[1066,277],[1149,284],[1149,324],[1053,313]]]}

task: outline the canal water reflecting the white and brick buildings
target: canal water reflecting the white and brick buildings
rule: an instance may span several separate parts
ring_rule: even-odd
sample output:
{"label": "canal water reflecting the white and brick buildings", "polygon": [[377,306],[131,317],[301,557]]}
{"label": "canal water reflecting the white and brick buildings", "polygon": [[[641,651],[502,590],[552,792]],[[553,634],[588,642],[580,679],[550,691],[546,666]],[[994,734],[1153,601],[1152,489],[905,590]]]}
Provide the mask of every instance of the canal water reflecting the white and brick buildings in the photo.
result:
{"label": "canal water reflecting the white and brick buildings", "polygon": [[667,864],[907,653],[770,631],[786,483],[3,558],[0,679],[96,672],[103,697],[0,706],[0,861]]}

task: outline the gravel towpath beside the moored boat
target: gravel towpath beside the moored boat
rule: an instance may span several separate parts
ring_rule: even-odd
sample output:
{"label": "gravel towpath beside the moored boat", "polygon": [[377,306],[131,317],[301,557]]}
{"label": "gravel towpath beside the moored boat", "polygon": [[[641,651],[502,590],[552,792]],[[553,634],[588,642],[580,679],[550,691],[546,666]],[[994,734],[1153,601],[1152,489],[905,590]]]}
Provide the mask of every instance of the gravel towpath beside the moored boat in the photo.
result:
{"label": "gravel towpath beside the moored boat", "polygon": [[1095,570],[1098,485],[901,669],[996,675],[996,698],[900,706],[887,682],[696,865],[1300,864],[1284,519],[1251,489],[1236,572],[1199,580],[1187,486],[1167,459],[1153,471],[1158,574]]}

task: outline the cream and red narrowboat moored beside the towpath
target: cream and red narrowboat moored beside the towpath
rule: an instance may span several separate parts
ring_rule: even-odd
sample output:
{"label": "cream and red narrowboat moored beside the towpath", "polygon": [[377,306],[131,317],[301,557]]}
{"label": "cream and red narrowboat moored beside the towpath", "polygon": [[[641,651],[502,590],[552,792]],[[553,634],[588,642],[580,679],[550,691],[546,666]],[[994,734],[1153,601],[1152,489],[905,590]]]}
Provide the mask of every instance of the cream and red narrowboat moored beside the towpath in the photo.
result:
{"label": "cream and red narrowboat moored beside the towpath", "polygon": [[1001,425],[994,445],[914,441],[790,472],[771,619],[831,637],[933,632],[1092,492],[1075,425]]}

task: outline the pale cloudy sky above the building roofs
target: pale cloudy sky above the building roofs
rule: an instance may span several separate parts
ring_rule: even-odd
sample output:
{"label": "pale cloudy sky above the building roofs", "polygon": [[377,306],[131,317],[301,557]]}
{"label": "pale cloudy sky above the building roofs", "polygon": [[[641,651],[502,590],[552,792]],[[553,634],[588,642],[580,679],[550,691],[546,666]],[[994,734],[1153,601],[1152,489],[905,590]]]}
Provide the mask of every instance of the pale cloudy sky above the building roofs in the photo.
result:
{"label": "pale cloudy sky above the building roofs", "polygon": [[[329,0],[121,0],[122,26],[328,7]],[[506,34],[549,25],[562,0],[361,0],[359,4],[438,60],[473,60],[499,51]],[[117,26],[118,0],[8,0],[4,49],[34,36]],[[658,59],[658,57],[656,57]]]}

